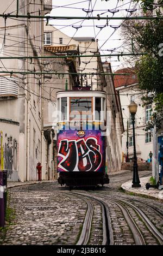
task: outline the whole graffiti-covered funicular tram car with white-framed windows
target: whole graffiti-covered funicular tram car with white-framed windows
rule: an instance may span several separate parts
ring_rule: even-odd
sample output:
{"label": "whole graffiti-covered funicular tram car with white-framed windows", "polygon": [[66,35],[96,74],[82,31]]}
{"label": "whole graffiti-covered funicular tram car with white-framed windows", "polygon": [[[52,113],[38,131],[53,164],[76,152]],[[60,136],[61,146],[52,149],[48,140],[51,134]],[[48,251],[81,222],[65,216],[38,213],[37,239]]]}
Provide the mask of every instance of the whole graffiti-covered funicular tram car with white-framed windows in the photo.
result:
{"label": "whole graffiti-covered funicular tram car with white-framed windows", "polygon": [[101,91],[57,92],[57,162],[61,186],[109,183],[103,131],[105,100],[105,92]]}

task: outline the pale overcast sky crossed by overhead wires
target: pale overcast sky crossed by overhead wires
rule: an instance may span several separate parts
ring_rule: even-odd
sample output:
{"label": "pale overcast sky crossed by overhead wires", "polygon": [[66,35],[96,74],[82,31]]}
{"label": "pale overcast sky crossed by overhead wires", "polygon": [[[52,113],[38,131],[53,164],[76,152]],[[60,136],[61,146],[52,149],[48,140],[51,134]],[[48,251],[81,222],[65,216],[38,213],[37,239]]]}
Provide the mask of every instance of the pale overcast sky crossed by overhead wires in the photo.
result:
{"label": "pale overcast sky crossed by overhead wires", "polygon": [[[129,0],[53,0],[53,16],[97,16],[106,17],[108,15],[108,24],[106,20],[51,20],[49,23],[60,29],[63,33],[70,37],[94,37],[98,39],[98,47],[101,54],[127,52],[124,49],[131,41],[123,40],[121,35],[121,24],[123,20],[109,20],[109,17],[126,17],[130,14],[131,9],[136,9],[137,6],[133,1]],[[93,10],[93,11],[92,11]],[[109,10],[109,11],[108,11]],[[115,12],[117,11],[117,12]],[[108,25],[108,26],[107,26]],[[111,27],[111,26],[112,27]],[[74,26],[74,27],[72,27]],[[96,27],[98,26],[98,27]],[[117,26],[120,26],[117,28]],[[118,49],[117,49],[118,48]],[[118,60],[117,57],[103,57],[102,61],[111,62],[112,70],[118,70],[127,67],[128,64],[122,57]]]}

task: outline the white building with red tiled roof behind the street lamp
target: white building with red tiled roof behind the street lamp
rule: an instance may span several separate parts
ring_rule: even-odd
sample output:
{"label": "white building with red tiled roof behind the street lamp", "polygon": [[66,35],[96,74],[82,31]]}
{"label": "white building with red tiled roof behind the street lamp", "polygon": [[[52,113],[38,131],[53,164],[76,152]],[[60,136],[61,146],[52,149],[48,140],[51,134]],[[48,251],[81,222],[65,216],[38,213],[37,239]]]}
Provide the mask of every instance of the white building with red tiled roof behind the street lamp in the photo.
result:
{"label": "white building with red tiled roof behind the street lamp", "polygon": [[139,84],[133,70],[126,68],[117,70],[116,73],[130,73],[129,76],[117,75],[114,79],[116,91],[118,91],[120,94],[123,123],[125,130],[122,137],[122,154],[124,155],[124,162],[125,157],[127,156],[127,150],[129,159],[132,160],[133,158],[133,126],[128,108],[128,105],[132,101],[134,101],[137,104],[137,112],[135,115],[135,142],[137,159],[143,162],[149,161],[150,151],[153,153],[153,134],[152,132],[146,132],[144,129],[146,127],[146,123],[151,119],[152,105],[143,107],[143,102],[141,100],[142,93],[139,89]]}

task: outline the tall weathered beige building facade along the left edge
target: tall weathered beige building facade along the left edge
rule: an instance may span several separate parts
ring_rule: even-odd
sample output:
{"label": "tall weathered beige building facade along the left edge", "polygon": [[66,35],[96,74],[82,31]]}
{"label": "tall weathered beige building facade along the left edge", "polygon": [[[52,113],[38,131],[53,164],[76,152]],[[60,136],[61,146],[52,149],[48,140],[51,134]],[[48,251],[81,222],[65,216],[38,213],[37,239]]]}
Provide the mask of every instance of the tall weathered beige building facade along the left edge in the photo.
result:
{"label": "tall weathered beige building facade along the left edge", "polygon": [[[47,5],[48,4],[48,5]],[[37,12],[45,15],[52,1],[1,1],[1,13],[27,15]],[[15,10],[13,12],[13,10]],[[37,180],[36,165],[43,164],[45,138],[42,130],[43,76],[26,74],[42,72],[42,63],[33,56],[41,56],[43,49],[43,22],[30,19],[0,18],[1,61],[0,76],[0,132],[1,170],[8,170],[12,181]],[[27,56],[31,59],[13,59]],[[14,74],[14,72],[18,72]],[[24,73],[23,73],[24,72]],[[42,168],[42,178],[46,177]]]}

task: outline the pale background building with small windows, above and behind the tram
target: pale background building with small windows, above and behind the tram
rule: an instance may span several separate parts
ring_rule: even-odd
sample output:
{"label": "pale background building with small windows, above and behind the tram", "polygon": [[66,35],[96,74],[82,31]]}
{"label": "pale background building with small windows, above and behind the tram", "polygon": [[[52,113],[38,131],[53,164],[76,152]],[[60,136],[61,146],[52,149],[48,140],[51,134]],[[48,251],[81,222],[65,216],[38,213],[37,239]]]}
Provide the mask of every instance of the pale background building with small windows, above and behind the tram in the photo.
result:
{"label": "pale background building with small windows, above and behind the tram", "polygon": [[[44,45],[45,46],[69,46],[78,49],[78,55],[93,55],[98,52],[97,41],[91,37],[68,37],[54,26],[44,23]],[[58,50],[59,52],[59,50]],[[98,73],[97,57],[81,57],[78,65],[76,66],[79,73]],[[83,86],[91,86],[92,90],[98,87],[98,79],[96,75],[82,77]]]}

